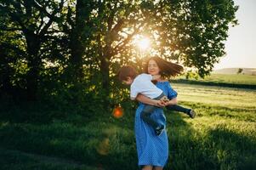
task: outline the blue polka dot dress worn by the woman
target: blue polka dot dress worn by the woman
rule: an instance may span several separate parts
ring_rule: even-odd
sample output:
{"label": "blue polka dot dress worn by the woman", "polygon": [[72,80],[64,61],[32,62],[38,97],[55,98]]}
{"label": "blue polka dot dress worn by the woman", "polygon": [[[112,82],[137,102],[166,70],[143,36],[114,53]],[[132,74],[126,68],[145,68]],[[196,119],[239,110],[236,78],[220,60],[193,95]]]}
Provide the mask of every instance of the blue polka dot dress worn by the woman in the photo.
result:
{"label": "blue polka dot dress worn by the woman", "polygon": [[[169,82],[157,82],[156,87],[162,89],[162,92],[173,99],[177,93],[171,88]],[[164,167],[168,161],[168,136],[166,130],[160,136],[156,136],[154,129],[140,118],[144,104],[139,103],[135,114],[135,138],[139,166],[150,165]],[[166,126],[166,117],[162,108],[156,109],[151,117],[158,123]]]}

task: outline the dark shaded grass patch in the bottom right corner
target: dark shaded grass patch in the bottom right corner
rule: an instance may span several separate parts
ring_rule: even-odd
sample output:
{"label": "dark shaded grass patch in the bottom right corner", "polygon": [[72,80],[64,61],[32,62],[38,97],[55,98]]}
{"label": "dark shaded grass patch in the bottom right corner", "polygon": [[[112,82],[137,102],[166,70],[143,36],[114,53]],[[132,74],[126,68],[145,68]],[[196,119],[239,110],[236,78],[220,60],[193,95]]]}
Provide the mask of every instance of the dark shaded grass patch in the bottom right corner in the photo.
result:
{"label": "dark shaded grass patch in the bottom right corner", "polygon": [[220,169],[255,169],[255,136],[236,133],[226,125],[219,125],[208,132],[207,144],[212,144]]}

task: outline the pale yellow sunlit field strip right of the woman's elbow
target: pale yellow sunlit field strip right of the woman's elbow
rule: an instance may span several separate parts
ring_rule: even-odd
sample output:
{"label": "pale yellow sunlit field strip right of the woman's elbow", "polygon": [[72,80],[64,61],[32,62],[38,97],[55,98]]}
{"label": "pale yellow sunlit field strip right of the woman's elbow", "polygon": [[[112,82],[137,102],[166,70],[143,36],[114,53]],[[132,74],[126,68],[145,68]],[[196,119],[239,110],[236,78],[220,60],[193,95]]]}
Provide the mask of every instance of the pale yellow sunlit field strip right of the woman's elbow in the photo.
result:
{"label": "pale yellow sunlit field strip right of the woman's elbow", "polygon": [[256,90],[253,89],[181,83],[173,83],[172,86],[178,92],[180,101],[229,108],[250,108],[256,111]]}

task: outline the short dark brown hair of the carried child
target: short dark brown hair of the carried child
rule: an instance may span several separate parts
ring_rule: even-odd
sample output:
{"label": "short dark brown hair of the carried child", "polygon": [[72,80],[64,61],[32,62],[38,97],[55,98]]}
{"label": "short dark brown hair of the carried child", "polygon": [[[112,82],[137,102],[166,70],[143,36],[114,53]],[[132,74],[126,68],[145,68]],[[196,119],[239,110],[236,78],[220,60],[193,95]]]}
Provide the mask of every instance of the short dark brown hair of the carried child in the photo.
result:
{"label": "short dark brown hair of the carried child", "polygon": [[117,76],[120,81],[126,81],[127,77],[131,77],[132,79],[134,79],[137,76],[137,71],[134,69],[133,66],[126,65],[126,66],[122,66],[119,69]]}

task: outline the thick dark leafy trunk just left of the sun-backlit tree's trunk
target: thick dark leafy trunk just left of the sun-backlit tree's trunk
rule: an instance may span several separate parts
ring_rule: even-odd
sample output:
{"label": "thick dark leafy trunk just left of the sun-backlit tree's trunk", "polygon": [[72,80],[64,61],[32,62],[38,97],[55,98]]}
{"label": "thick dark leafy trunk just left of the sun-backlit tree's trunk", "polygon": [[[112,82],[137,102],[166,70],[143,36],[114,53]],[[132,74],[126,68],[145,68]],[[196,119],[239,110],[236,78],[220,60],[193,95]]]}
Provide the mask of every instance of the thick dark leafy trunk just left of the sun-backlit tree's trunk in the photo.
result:
{"label": "thick dark leafy trunk just left of the sun-backlit tree's trunk", "polygon": [[94,9],[94,1],[69,1],[66,8],[63,31],[67,35],[68,48],[70,49],[70,65],[68,75],[74,82],[82,82],[85,76],[83,65],[86,58],[85,51],[88,47],[88,39],[91,37],[92,24],[91,13]]}

